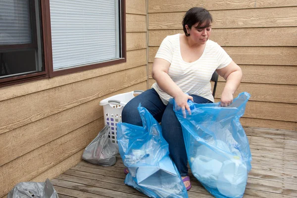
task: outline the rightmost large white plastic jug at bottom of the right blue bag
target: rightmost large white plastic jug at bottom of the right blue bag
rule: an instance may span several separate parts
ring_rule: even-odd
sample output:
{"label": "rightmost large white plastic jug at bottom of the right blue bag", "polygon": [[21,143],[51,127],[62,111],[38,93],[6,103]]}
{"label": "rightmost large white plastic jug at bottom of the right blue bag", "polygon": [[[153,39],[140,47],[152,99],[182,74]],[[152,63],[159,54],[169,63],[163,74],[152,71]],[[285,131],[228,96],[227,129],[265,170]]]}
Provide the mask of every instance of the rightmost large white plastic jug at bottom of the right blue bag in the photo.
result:
{"label": "rightmost large white plastic jug at bottom of the right blue bag", "polygon": [[240,197],[247,185],[247,166],[241,159],[224,161],[218,175],[217,189],[226,197]]}

